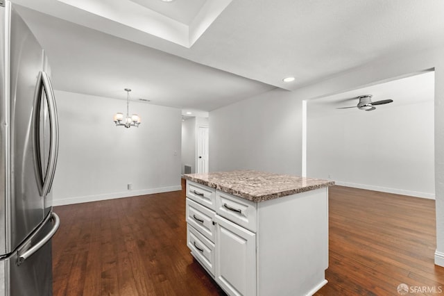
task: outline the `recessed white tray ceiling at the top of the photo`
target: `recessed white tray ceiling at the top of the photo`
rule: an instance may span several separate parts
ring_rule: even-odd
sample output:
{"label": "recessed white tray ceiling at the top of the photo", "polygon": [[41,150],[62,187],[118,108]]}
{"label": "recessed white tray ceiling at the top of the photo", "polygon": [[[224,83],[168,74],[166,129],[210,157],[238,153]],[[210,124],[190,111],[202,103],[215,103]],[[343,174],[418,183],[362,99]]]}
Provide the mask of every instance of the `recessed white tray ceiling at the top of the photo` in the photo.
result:
{"label": "recessed white tray ceiling at the top of the photo", "polygon": [[232,0],[56,1],[189,48]]}

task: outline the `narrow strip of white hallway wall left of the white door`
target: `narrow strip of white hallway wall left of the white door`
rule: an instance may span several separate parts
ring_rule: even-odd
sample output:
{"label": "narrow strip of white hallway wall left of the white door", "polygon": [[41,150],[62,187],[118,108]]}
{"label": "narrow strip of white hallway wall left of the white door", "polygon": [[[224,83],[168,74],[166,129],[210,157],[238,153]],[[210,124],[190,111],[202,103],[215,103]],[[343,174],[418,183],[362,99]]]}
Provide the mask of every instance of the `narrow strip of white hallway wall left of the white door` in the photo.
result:
{"label": "narrow strip of white hallway wall left of the white door", "polygon": [[182,174],[185,165],[191,167],[191,173],[196,172],[196,117],[182,122]]}

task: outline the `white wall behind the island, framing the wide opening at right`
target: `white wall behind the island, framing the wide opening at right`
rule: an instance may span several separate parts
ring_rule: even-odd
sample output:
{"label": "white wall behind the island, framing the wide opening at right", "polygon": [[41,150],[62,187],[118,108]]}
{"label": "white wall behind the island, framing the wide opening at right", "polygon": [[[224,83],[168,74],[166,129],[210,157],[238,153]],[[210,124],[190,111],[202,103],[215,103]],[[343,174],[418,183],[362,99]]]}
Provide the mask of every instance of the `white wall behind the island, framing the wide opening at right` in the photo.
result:
{"label": "white wall behind the island, framing the wide opening at right", "polygon": [[397,52],[293,92],[273,90],[212,111],[210,171],[250,168],[300,174],[302,100],[363,88],[432,68],[435,69],[435,263],[444,266],[444,48],[416,54]]}

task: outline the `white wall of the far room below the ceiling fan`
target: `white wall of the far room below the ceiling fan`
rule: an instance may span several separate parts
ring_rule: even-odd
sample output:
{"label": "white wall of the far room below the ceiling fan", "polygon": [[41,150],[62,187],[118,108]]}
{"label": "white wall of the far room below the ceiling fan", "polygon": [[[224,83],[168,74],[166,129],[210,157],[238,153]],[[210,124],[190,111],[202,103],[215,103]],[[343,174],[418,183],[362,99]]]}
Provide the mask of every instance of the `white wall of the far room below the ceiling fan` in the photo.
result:
{"label": "white wall of the far room below the ceiling fan", "polygon": [[[307,176],[434,198],[434,101],[307,112]],[[315,114],[313,114],[315,113]]]}

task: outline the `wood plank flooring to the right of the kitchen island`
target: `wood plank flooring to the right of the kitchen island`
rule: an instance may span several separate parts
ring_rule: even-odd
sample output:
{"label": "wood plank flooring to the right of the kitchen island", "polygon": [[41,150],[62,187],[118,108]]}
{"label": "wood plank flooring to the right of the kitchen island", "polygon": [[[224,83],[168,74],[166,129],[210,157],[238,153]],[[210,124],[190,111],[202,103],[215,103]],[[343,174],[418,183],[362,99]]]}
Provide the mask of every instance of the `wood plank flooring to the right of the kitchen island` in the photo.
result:
{"label": "wood plank flooring to the right of the kitchen island", "polygon": [[341,186],[329,192],[329,283],[317,295],[399,295],[400,283],[441,287],[444,295],[434,200]]}

